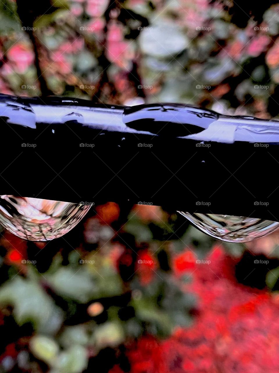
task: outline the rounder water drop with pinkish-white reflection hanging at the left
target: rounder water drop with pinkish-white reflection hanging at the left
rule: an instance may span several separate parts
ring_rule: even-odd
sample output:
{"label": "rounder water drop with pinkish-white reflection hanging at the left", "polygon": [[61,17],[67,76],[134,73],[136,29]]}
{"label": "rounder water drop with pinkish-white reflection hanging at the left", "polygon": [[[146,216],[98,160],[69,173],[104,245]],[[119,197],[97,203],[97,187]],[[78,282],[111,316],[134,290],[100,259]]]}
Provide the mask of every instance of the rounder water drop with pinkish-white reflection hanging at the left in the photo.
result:
{"label": "rounder water drop with pinkish-white reflection hanging at the left", "polygon": [[16,236],[31,241],[49,241],[73,229],[91,204],[0,196],[0,224]]}

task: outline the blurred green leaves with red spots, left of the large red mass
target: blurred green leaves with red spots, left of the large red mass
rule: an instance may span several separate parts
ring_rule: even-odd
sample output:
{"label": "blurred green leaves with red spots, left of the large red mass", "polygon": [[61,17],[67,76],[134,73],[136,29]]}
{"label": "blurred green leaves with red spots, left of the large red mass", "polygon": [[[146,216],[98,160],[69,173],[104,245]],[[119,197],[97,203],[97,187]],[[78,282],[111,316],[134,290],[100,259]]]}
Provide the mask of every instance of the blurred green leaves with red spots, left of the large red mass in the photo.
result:
{"label": "blurred green leaves with red spots, left of the large red mass", "polygon": [[171,270],[171,252],[185,245],[177,216],[139,205],[121,220],[120,211],[98,206],[84,232],[81,225],[46,244],[1,235],[4,372],[83,372],[104,349],[120,352],[146,333],[166,338],[189,325],[195,297]]}

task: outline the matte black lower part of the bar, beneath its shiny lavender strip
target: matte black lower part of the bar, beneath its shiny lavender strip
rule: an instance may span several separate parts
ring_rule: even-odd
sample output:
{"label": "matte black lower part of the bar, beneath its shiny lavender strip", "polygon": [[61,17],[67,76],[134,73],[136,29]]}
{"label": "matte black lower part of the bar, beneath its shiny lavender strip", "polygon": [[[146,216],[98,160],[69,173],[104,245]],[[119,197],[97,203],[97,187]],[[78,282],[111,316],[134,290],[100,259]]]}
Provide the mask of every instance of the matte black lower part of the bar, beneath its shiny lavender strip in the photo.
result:
{"label": "matte black lower part of the bar, beneath its shiny lavender strip", "polygon": [[278,145],[201,147],[195,140],[100,131],[77,122],[32,129],[7,124],[5,117],[0,126],[0,194],[95,205],[130,200],[279,220]]}

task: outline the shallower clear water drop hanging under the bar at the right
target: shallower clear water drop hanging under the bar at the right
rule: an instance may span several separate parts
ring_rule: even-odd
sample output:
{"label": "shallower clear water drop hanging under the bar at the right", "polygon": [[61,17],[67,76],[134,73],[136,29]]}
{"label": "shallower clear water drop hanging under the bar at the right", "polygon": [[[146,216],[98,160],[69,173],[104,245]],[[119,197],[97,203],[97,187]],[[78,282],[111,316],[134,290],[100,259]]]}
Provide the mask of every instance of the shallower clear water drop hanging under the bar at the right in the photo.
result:
{"label": "shallower clear water drop hanging under the bar at the right", "polygon": [[278,222],[254,217],[177,212],[201,231],[227,242],[252,241],[279,228]]}

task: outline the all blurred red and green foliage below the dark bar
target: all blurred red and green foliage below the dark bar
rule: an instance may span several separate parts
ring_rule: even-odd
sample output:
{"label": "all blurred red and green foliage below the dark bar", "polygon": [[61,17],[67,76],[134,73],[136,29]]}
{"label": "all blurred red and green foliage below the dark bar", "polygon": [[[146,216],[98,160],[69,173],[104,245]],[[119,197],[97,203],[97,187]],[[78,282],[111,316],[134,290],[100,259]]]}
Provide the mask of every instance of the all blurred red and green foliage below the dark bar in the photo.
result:
{"label": "all blurred red and green foliage below the dark bar", "polygon": [[2,232],[2,371],[214,373],[237,364],[252,373],[268,361],[275,372],[279,303],[265,281],[277,276],[278,233],[224,245],[160,207],[129,210],[97,206],[47,243]]}

